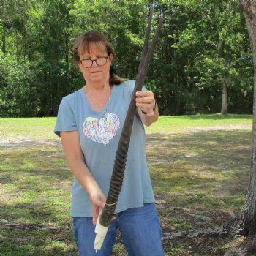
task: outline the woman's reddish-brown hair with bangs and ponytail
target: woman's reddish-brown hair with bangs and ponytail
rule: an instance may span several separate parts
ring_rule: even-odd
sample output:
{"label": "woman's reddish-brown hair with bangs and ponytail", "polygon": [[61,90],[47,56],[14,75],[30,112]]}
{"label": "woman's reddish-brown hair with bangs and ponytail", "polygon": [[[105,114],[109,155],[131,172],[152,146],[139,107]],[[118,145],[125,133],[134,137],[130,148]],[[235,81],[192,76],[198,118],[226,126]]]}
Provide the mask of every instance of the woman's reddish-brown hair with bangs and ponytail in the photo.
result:
{"label": "woman's reddish-brown hair with bangs and ponytail", "polygon": [[[97,31],[88,31],[78,37],[73,47],[73,58],[75,64],[78,65],[80,61],[80,56],[83,55],[84,52],[87,51],[88,53],[90,53],[91,46],[96,47],[102,52],[106,51],[108,56],[111,53],[114,55],[113,47],[104,34],[100,34]],[[118,75],[110,70],[110,86],[113,86],[114,84],[119,85],[124,81],[124,78],[119,78]]]}

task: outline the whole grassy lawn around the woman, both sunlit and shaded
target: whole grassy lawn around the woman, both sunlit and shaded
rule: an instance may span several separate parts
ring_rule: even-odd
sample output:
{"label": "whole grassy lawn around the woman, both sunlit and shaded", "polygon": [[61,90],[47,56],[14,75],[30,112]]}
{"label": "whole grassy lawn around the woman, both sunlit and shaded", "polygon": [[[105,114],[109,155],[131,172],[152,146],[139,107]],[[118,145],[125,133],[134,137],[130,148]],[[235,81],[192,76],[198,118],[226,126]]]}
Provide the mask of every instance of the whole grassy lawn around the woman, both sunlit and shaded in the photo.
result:
{"label": "whole grassy lawn around the woman, both sunlit and shaded", "polygon": [[[0,118],[0,255],[77,255],[69,217],[72,175],[56,118]],[[224,255],[229,238],[176,238],[173,230],[230,221],[249,181],[252,116],[161,117],[146,127],[148,167],[165,255]],[[113,255],[127,255],[118,236]]]}

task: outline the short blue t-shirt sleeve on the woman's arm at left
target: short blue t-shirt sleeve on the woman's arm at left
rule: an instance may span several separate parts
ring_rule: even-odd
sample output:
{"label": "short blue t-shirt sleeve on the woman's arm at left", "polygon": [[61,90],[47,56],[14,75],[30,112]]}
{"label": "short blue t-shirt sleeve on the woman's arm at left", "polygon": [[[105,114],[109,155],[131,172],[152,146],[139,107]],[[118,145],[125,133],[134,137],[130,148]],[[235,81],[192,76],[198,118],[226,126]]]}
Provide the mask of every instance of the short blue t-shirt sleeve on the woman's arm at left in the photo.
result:
{"label": "short blue t-shirt sleeve on the woman's arm at left", "polygon": [[64,97],[59,105],[58,116],[54,128],[56,135],[60,136],[61,131],[75,131],[77,130],[75,122],[74,108],[70,104],[67,97]]}

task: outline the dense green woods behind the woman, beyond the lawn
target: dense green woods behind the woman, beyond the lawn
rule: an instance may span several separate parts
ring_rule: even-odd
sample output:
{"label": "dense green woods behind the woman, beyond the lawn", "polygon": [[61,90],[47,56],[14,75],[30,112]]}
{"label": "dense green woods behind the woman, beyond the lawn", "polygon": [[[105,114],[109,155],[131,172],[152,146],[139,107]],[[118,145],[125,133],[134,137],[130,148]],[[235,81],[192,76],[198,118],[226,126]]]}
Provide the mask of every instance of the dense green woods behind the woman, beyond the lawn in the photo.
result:
{"label": "dense green woods behind the woman, beyond the lawn", "polygon": [[[83,31],[105,34],[117,74],[135,79],[151,1],[0,5],[0,117],[56,116],[61,98],[84,85],[72,64],[72,46]],[[252,50],[238,1],[154,1],[154,26],[159,15],[165,20],[146,87],[161,114],[252,113]]]}

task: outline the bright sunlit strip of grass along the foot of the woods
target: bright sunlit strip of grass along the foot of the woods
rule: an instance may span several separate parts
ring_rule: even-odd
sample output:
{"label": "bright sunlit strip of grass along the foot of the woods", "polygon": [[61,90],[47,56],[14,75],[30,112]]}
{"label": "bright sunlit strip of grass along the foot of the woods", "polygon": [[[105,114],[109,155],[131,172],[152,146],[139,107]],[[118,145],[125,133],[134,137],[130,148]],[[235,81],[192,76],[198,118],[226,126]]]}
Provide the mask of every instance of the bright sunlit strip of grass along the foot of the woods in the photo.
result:
{"label": "bright sunlit strip of grass along the foot of the woods", "polygon": [[[46,118],[0,118],[0,140],[57,140],[53,134],[55,117]],[[221,126],[251,127],[251,115],[212,114],[192,116],[160,116],[159,120],[146,127],[148,134],[162,132],[190,132],[198,127]]]}

